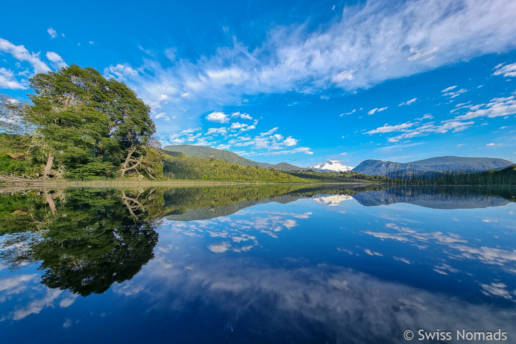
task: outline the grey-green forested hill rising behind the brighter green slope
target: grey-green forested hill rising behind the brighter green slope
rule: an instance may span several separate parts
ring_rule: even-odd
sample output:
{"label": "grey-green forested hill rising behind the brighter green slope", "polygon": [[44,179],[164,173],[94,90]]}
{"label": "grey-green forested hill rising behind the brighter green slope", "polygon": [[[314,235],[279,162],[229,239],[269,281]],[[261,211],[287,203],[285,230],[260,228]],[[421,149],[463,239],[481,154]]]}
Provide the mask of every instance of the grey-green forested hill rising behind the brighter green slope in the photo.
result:
{"label": "grey-green forested hill rising behind the brighter green slope", "polygon": [[205,147],[205,146],[177,144],[177,145],[172,145],[172,146],[166,146],[164,148],[164,150],[168,151],[168,152],[180,152],[189,157],[203,158],[203,159],[213,158],[215,160],[222,160],[222,161],[238,163],[238,165],[249,166],[249,167],[260,166],[260,167],[264,167],[267,169],[274,168],[276,170],[281,170],[281,171],[304,171],[304,170],[307,170],[307,168],[294,166],[287,162],[280,162],[280,163],[277,163],[276,165],[273,165],[272,163],[267,163],[267,162],[257,162],[257,161],[253,161],[253,160],[244,158],[242,156],[239,156],[230,151],[223,151],[223,150],[218,150],[215,148]]}

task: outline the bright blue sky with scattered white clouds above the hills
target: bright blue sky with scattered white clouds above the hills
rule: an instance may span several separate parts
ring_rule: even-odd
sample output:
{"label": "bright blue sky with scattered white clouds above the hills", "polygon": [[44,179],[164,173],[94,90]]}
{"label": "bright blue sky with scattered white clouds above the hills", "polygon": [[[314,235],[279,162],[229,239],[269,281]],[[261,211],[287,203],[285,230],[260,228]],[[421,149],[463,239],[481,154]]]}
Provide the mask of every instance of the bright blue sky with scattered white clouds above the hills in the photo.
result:
{"label": "bright blue sky with scattered white clouds above the hills", "polygon": [[0,92],[66,64],[152,108],[164,144],[250,159],[516,160],[516,2],[3,4]]}

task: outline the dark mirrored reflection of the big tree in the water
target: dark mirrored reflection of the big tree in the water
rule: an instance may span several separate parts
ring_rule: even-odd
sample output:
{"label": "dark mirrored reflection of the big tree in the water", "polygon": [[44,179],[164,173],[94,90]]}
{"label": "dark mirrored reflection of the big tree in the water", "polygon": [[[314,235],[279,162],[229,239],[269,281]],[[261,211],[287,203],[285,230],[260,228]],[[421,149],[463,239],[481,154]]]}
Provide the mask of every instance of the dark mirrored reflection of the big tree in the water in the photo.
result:
{"label": "dark mirrored reflection of the big tree in the water", "polygon": [[[87,296],[131,279],[153,258],[163,213],[154,190],[31,191],[0,198],[0,258],[39,262],[42,283]],[[162,209],[163,210],[163,209]]]}

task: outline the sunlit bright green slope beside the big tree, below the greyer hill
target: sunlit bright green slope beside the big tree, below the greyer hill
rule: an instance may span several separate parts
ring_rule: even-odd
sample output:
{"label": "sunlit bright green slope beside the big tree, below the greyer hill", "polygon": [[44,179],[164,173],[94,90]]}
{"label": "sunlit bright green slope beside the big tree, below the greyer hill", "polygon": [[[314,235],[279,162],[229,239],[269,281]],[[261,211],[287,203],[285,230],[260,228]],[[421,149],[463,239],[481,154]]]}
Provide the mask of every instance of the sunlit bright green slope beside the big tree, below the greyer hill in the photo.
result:
{"label": "sunlit bright green slope beside the big tree, below the greyer hill", "polygon": [[278,170],[242,166],[238,163],[188,157],[186,155],[163,158],[163,175],[172,179],[221,182],[290,182],[303,183],[307,179],[289,175]]}

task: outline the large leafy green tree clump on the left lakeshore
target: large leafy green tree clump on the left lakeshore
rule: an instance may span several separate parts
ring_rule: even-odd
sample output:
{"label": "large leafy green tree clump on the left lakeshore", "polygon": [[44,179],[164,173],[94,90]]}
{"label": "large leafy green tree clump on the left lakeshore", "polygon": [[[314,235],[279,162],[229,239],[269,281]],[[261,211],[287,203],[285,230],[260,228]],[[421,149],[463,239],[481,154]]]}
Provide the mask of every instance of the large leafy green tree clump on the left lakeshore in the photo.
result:
{"label": "large leafy green tree clump on the left lakeshore", "polygon": [[44,165],[44,176],[55,175],[55,170],[67,177],[160,176],[156,157],[146,160],[155,133],[150,109],[124,83],[77,65],[39,73],[29,81],[31,104],[10,110],[23,130],[4,130],[4,148],[9,139],[23,142],[10,146],[16,151],[11,153],[23,153],[40,170]]}

